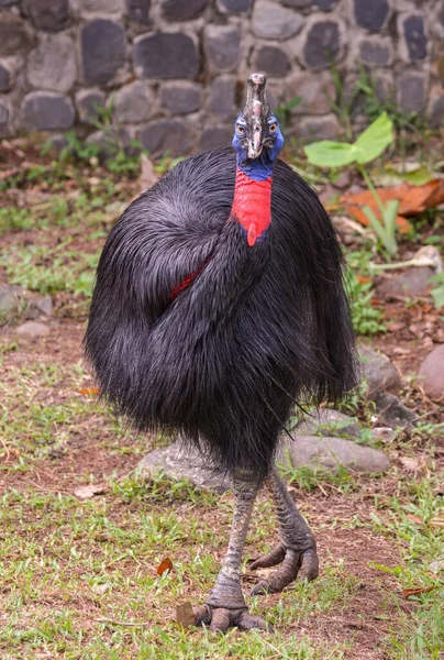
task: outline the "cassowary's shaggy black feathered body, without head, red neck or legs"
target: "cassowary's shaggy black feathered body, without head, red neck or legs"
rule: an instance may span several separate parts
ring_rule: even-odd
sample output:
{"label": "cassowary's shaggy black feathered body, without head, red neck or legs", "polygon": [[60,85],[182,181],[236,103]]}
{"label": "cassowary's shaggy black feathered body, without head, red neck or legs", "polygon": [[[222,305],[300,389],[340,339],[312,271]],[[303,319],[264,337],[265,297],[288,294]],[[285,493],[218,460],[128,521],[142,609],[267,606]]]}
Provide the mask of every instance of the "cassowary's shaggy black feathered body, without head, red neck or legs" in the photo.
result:
{"label": "cassowary's shaggy black feathered body, without head, red neck or legs", "polygon": [[251,248],[231,218],[235,156],[179,163],[122,215],[98,268],[87,353],[138,427],[185,431],[227,470],[266,472],[295,402],[353,386],[342,257],[314,191],[273,175]]}

